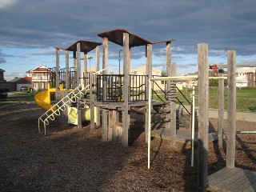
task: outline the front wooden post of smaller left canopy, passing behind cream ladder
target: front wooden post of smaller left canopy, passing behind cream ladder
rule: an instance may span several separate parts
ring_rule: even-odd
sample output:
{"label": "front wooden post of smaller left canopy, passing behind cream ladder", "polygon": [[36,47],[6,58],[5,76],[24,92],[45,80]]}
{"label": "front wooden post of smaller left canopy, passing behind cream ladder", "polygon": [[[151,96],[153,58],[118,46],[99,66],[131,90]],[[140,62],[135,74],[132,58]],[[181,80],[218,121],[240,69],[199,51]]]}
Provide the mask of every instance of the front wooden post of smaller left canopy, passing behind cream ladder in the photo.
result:
{"label": "front wooden post of smaller left canopy, passing behind cream ladder", "polygon": [[[81,85],[81,47],[80,42],[77,43],[77,85]],[[79,101],[77,102],[77,109],[78,109],[78,128],[82,128],[82,114],[81,114],[81,106]]]}

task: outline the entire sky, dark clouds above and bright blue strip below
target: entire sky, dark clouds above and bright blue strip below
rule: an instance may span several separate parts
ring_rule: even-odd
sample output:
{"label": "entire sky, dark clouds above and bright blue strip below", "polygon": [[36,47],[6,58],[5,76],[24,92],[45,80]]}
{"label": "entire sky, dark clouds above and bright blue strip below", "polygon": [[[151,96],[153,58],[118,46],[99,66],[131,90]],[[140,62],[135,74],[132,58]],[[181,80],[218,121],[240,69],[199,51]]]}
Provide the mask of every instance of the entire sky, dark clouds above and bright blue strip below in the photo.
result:
{"label": "entire sky, dark clouds above and bright blue strip below", "polygon": [[[119,28],[150,42],[175,39],[177,75],[197,71],[198,43],[208,43],[209,64],[226,63],[227,50],[236,50],[237,63],[254,64],[255,7],[255,0],[0,0],[0,69],[7,81],[25,77],[39,65],[55,66],[54,46],[102,42],[97,34]],[[153,66],[160,70],[166,68],[165,48],[153,46]],[[109,71],[118,72],[122,47],[110,43],[109,49]],[[88,55],[94,66],[95,51]],[[131,67],[145,62],[145,46],[133,48]]]}

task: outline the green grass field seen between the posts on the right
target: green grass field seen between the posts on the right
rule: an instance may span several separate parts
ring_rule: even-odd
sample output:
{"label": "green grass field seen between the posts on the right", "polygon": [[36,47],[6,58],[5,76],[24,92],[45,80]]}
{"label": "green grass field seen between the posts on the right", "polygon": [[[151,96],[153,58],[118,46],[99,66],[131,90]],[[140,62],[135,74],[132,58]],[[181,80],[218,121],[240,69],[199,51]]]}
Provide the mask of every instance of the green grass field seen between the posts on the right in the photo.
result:
{"label": "green grass field seen between the posts on the right", "polygon": [[[192,89],[183,88],[182,94],[184,94],[188,100],[191,100],[190,93],[192,93]],[[176,94],[178,99],[182,102],[183,105],[190,105],[188,102],[186,102],[186,99],[183,98],[182,94]],[[163,98],[162,94],[160,96]],[[224,108],[227,110],[226,88],[224,98]],[[156,96],[154,96],[154,99],[159,100],[159,98]],[[209,105],[210,108],[218,109],[218,87],[209,87]],[[195,89],[195,106],[198,106],[198,88]],[[237,111],[256,112],[256,88],[237,88]]]}

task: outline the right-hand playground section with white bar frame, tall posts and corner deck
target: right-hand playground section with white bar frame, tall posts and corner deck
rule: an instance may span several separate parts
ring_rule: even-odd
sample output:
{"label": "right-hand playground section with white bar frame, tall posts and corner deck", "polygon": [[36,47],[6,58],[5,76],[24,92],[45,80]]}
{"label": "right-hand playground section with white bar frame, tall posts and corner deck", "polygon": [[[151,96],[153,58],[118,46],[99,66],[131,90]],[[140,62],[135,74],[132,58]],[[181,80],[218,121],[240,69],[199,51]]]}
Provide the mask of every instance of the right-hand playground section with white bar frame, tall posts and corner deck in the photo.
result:
{"label": "right-hand playground section with white bar frame, tall posts and corner deck", "polygon": [[[255,191],[256,172],[234,167],[235,162],[235,135],[236,131],[236,52],[227,52],[228,63],[228,129],[226,143],[226,167],[208,176],[208,143],[209,143],[209,70],[208,70],[208,44],[198,44],[198,76],[197,77],[162,77],[154,80],[176,81],[180,79],[198,80],[198,191]],[[223,140],[223,114],[224,114],[224,77],[220,70],[218,77],[218,142]],[[149,94],[151,89],[149,87]],[[194,98],[194,97],[193,97]],[[149,101],[149,109],[151,101]],[[192,107],[194,110],[194,107]],[[150,113],[149,113],[150,114]],[[193,113],[194,114],[194,113]],[[194,116],[194,115],[193,115]],[[148,118],[148,168],[150,168],[150,138],[151,115]],[[194,124],[194,118],[192,125]],[[193,126],[192,126],[193,127]],[[174,127],[171,127],[174,129]],[[170,130],[170,140],[175,142],[176,130]],[[154,134],[153,134],[154,136]],[[194,131],[192,129],[192,150]],[[192,151],[192,155],[194,151]],[[192,158],[193,159],[193,156]]]}

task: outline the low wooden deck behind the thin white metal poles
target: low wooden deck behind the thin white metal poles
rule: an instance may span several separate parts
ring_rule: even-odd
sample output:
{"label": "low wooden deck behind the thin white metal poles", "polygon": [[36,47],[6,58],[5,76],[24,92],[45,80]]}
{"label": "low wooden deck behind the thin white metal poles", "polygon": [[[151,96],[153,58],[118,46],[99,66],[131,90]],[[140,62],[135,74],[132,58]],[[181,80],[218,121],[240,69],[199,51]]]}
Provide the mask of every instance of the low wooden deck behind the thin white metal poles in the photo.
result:
{"label": "low wooden deck behind the thin white metal poles", "polygon": [[[161,128],[158,130],[151,130],[151,136],[154,138],[162,138],[166,140],[170,140],[170,129]],[[192,140],[191,130],[177,130],[176,134],[176,142],[190,142]],[[208,141],[213,142],[218,140],[218,134],[210,133]],[[194,142],[198,142],[198,132],[194,134]]]}

